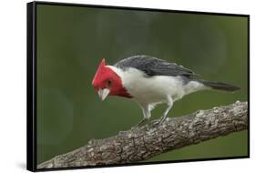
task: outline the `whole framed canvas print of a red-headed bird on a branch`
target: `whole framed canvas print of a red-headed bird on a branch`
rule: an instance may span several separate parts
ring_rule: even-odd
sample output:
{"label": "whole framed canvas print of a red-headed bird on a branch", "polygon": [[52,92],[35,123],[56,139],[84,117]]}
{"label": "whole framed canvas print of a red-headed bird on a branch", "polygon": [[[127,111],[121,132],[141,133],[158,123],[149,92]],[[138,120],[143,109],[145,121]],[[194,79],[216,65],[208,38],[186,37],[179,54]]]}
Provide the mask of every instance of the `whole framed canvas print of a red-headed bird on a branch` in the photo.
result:
{"label": "whole framed canvas print of a red-headed bird on a branch", "polygon": [[249,158],[249,22],[28,3],[27,169]]}

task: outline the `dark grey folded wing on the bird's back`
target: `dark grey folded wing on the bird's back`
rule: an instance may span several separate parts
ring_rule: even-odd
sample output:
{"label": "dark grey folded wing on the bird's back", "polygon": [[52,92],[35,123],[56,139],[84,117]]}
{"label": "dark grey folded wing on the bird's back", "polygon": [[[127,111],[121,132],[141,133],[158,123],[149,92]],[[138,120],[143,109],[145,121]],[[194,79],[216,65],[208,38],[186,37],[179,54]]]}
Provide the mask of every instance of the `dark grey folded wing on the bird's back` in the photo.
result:
{"label": "dark grey folded wing on the bird's back", "polygon": [[131,56],[114,66],[123,70],[134,67],[148,76],[198,76],[188,68],[152,56]]}

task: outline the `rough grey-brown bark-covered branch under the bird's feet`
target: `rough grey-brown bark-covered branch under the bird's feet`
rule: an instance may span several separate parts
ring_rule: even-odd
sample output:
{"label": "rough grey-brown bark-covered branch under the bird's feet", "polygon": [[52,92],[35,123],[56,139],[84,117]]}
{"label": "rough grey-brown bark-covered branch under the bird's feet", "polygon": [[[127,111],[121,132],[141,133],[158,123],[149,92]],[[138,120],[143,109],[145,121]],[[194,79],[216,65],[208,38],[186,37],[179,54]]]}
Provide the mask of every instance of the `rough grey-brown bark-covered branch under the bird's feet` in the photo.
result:
{"label": "rough grey-brown bark-covered branch under the bird's feet", "polygon": [[183,117],[169,117],[161,126],[119,132],[115,137],[92,139],[82,148],[56,156],[37,168],[67,168],[124,164],[146,160],[169,150],[226,136],[248,127],[248,104],[237,101],[225,107],[198,110]]}

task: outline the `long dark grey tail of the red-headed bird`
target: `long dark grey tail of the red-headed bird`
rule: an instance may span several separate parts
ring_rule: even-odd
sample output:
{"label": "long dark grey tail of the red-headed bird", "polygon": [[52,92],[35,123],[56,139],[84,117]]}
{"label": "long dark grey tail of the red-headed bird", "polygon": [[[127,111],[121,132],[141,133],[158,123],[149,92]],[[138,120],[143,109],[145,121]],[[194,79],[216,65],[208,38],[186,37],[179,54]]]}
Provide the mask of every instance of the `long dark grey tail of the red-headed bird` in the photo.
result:
{"label": "long dark grey tail of the red-headed bird", "polygon": [[198,81],[205,86],[209,86],[212,89],[218,89],[218,90],[228,91],[228,92],[233,92],[241,88],[239,86],[233,86],[233,85],[225,84],[221,82],[211,82],[211,81],[202,80],[202,79],[199,79]]}

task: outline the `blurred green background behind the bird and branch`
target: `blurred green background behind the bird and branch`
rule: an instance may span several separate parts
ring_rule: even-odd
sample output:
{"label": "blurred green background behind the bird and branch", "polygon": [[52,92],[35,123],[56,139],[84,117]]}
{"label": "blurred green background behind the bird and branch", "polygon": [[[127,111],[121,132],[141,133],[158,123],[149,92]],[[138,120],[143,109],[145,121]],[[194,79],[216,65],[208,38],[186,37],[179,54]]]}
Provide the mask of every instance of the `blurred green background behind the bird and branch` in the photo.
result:
{"label": "blurred green background behind the bird and branch", "polygon": [[[102,58],[135,55],[176,62],[209,80],[241,86],[230,94],[201,91],[174,104],[169,116],[248,99],[248,19],[80,6],[37,5],[37,163],[111,137],[142,118],[137,103],[100,102],[91,86]],[[152,112],[158,118],[165,105]],[[177,149],[146,161],[246,156],[247,131]]]}

